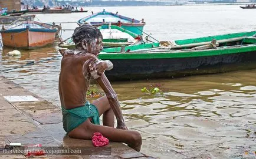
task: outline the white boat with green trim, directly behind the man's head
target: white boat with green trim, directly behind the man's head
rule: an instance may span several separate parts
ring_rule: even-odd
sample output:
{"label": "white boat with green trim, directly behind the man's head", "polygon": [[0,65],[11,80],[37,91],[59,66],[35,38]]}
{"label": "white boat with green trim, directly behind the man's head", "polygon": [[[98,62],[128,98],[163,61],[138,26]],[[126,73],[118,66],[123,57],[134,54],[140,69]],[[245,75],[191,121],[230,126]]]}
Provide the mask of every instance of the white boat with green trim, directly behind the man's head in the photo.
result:
{"label": "white boat with green trim, directly behind the man's head", "polygon": [[[135,45],[139,43],[139,40],[142,40],[139,35],[116,25],[101,25],[98,28],[103,35],[104,48]],[[76,48],[71,38],[62,41],[59,46],[67,49]]]}

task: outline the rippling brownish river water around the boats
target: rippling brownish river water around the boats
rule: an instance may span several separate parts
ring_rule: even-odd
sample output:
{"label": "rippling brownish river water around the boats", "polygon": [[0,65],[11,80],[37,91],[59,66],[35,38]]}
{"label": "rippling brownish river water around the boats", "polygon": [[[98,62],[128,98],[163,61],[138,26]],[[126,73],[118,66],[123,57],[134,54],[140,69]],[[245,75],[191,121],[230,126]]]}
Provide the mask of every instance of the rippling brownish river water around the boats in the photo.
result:
{"label": "rippling brownish river water around the boats", "polygon": [[[159,40],[256,30],[256,9],[241,9],[238,5],[104,8],[131,18],[144,18],[144,31]],[[45,14],[36,18],[41,22],[76,22],[91,11],[102,11],[103,7],[85,9],[87,13]],[[62,26],[77,27],[76,23]],[[72,32],[63,32],[63,39]],[[6,56],[9,50],[12,49],[0,51],[1,70],[24,65],[27,60],[60,56],[57,47],[21,50],[21,57]],[[58,57],[2,75],[60,106],[60,60]],[[112,82],[112,85],[127,126],[142,133],[142,153],[157,158],[256,157],[256,69],[180,79]],[[92,86],[100,90],[97,85]],[[140,90],[155,86],[162,94]],[[172,155],[175,151],[179,154]]]}

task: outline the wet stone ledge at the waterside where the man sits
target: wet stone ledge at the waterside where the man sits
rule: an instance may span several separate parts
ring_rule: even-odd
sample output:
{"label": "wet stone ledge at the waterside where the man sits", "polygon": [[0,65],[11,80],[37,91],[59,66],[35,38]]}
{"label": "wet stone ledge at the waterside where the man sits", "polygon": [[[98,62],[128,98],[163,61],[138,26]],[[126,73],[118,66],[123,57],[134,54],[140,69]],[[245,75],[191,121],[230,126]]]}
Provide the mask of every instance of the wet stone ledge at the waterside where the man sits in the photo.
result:
{"label": "wet stone ledge at the waterside where the man sits", "polygon": [[[43,147],[93,147],[90,140],[66,135],[62,127],[61,109],[54,104],[0,77],[1,147],[6,143],[42,144]],[[7,102],[4,96],[31,95],[38,102]],[[36,158],[152,158],[138,153],[123,143],[113,143],[111,155],[44,155]],[[0,155],[0,158],[24,158],[22,154]]]}

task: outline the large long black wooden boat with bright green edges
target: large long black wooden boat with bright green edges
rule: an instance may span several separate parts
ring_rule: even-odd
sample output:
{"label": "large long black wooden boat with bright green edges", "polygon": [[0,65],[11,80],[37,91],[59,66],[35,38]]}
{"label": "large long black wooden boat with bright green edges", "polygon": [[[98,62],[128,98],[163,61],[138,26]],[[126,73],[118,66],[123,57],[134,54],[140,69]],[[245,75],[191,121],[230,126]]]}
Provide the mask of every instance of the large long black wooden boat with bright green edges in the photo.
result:
{"label": "large long black wooden boat with bright green edges", "polygon": [[[256,31],[104,49],[110,80],[172,79],[256,68]],[[214,39],[214,40],[212,40]],[[215,43],[214,43],[215,41]]]}

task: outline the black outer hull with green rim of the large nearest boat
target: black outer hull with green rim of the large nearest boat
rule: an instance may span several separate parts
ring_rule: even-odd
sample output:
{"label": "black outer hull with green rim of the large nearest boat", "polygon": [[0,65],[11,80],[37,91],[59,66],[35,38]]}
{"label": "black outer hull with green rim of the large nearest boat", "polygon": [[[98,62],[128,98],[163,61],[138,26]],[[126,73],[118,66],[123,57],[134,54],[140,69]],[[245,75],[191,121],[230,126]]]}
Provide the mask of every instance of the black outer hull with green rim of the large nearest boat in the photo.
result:
{"label": "black outer hull with green rim of the large nearest boat", "polygon": [[[233,70],[256,68],[256,46],[248,50],[223,49],[221,52],[205,53],[202,56],[193,56],[193,52],[157,57],[147,55],[134,59],[133,57],[108,58],[100,55],[100,59],[109,59],[114,67],[105,74],[109,80],[140,80],[140,79],[172,79],[176,77],[223,73]],[[175,54],[175,53],[166,53]],[[208,54],[208,55],[207,55]],[[141,55],[137,55],[138,57]],[[154,57],[155,56],[155,57]],[[117,58],[118,57],[118,58]]]}

